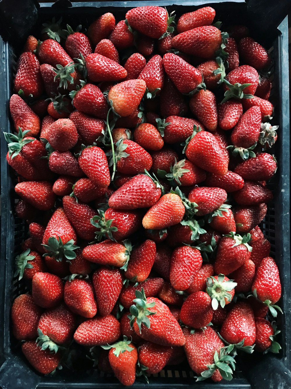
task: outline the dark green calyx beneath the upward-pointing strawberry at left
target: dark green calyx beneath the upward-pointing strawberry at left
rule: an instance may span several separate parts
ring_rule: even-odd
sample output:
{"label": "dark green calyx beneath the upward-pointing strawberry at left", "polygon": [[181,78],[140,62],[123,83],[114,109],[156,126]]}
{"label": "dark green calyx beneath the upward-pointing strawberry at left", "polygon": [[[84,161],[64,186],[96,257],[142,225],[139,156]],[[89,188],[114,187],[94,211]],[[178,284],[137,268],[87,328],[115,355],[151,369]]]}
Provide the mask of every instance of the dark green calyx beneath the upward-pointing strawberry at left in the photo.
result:
{"label": "dark green calyx beneath the upward-pointing strawberry at left", "polygon": [[50,237],[47,242],[48,244],[42,244],[45,250],[48,251],[43,254],[43,257],[54,257],[57,262],[61,262],[63,258],[66,258],[67,262],[71,261],[72,259],[76,258],[76,253],[74,250],[80,249],[79,246],[74,244],[73,239],[63,243],[61,237],[58,239],[55,237]]}

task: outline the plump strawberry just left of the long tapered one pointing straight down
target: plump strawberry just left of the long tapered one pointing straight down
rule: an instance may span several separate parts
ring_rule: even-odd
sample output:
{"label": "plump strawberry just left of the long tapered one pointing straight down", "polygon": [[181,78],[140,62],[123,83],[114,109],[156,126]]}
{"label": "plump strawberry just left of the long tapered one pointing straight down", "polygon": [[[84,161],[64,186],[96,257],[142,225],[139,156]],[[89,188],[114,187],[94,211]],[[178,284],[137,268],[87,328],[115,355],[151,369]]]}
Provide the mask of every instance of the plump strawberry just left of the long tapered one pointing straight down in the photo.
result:
{"label": "plump strawberry just left of the long tapered one pointing straight down", "polygon": [[92,284],[90,281],[75,277],[79,276],[72,274],[66,281],[64,302],[74,314],[94,317],[97,313],[97,305]]}

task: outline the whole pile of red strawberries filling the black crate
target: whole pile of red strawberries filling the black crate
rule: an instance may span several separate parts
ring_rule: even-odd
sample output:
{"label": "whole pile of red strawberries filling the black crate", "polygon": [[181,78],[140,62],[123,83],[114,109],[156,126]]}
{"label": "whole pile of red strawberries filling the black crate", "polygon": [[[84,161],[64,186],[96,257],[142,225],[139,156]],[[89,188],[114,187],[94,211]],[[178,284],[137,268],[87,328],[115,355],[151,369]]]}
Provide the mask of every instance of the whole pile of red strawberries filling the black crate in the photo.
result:
{"label": "whole pile of red strawberries filling the black crate", "polygon": [[258,226],[277,167],[271,59],[211,7],[173,18],[106,13],[87,35],[54,21],[19,57],[5,137],[30,292],[12,328],[40,373],[81,345],[124,385],[186,359],[230,380],[237,351],[281,348]]}

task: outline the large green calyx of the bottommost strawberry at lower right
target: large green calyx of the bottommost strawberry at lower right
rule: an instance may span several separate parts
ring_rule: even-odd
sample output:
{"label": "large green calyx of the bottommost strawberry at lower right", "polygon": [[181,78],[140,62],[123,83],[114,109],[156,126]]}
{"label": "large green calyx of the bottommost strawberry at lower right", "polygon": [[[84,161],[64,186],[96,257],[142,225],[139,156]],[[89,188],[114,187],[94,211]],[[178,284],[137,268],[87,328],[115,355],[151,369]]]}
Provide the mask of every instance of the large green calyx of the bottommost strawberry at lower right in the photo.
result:
{"label": "large green calyx of the bottommost strawberry at lower right", "polygon": [[215,351],[213,358],[214,363],[208,365],[208,370],[202,371],[201,375],[196,377],[196,381],[203,381],[207,378],[210,378],[216,369],[219,370],[220,374],[222,375],[222,378],[227,381],[232,380],[232,374],[236,368],[236,361],[234,357],[229,355],[229,348],[222,347],[219,351],[219,354],[217,351]]}

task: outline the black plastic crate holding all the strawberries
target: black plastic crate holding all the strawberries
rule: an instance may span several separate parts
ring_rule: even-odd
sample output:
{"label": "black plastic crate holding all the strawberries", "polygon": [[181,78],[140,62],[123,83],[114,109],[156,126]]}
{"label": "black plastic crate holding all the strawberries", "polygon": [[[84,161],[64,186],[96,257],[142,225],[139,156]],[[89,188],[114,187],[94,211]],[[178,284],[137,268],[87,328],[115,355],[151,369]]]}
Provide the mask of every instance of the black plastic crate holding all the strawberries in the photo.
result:
{"label": "black plastic crate holding all the strawberries", "polygon": [[[282,0],[281,0],[282,1]],[[254,3],[254,1],[250,1]],[[0,12],[3,12],[0,2]],[[7,7],[8,1],[6,1]],[[130,1],[130,2],[76,2],[73,7],[67,0],[59,0],[58,4],[41,3],[38,8],[33,1],[19,2],[10,0],[7,8],[8,23],[3,32],[3,42],[0,38],[0,128],[1,128],[1,251],[0,251],[0,387],[2,389],[40,389],[44,388],[120,388],[123,387],[113,375],[100,373],[97,370],[57,371],[52,377],[44,377],[31,369],[22,356],[19,343],[10,336],[10,307],[16,296],[25,293],[27,288],[23,282],[13,279],[14,258],[21,251],[21,243],[26,237],[24,222],[14,216],[15,206],[15,176],[6,162],[7,144],[3,131],[13,131],[9,119],[9,98],[13,93],[13,78],[16,58],[21,53],[24,39],[29,33],[40,32],[41,24],[62,16],[64,23],[77,26],[88,26],[94,19],[105,12],[113,12],[116,21],[124,19],[128,9],[140,5],[167,6],[168,11],[176,11],[177,17],[204,5],[215,8],[216,20],[226,23],[246,24],[251,28],[252,36],[272,51],[274,66],[272,68],[272,95],[270,100],[275,106],[274,124],[279,124],[278,141],[274,149],[279,166],[276,175],[269,183],[274,191],[274,201],[268,204],[267,215],[262,222],[262,230],[270,240],[271,253],[278,264],[282,297],[279,304],[284,314],[278,315],[281,329],[280,343],[282,350],[279,356],[260,357],[257,353],[251,356],[237,358],[239,365],[230,382],[213,383],[203,381],[196,383],[194,373],[187,364],[167,368],[158,374],[151,375],[150,384],[137,380],[134,388],[167,388],[190,389],[192,387],[206,388],[291,388],[291,279],[290,279],[290,230],[289,230],[289,84],[288,84],[288,20],[285,18],[278,28],[269,26],[268,30],[253,28],[253,14],[248,12],[243,0],[213,1],[177,0],[175,5],[169,0]],[[14,5],[19,9],[13,9]],[[13,19],[9,19],[13,14]],[[4,14],[1,14],[4,16]],[[263,18],[263,16],[262,16]],[[276,19],[276,18],[274,18]],[[10,25],[9,25],[10,21]],[[11,23],[22,23],[17,30]],[[273,20],[274,21],[274,20]],[[4,24],[5,24],[4,23]]]}

